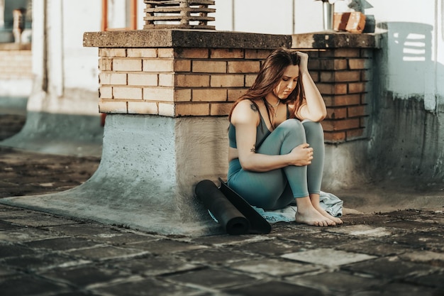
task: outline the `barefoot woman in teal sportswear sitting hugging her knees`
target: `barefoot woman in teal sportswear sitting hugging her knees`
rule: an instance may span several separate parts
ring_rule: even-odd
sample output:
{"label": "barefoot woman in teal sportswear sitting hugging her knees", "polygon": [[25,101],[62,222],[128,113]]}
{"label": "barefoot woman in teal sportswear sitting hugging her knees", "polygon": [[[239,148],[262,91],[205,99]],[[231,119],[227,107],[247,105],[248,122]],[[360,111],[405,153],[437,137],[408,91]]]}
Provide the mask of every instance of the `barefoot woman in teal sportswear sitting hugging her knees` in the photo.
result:
{"label": "barefoot woman in teal sportswear sitting hugging her knees", "polygon": [[308,60],[306,53],[274,50],[233,104],[228,186],[263,209],[281,209],[296,199],[297,222],[334,226],[343,222],[319,204],[326,105]]}

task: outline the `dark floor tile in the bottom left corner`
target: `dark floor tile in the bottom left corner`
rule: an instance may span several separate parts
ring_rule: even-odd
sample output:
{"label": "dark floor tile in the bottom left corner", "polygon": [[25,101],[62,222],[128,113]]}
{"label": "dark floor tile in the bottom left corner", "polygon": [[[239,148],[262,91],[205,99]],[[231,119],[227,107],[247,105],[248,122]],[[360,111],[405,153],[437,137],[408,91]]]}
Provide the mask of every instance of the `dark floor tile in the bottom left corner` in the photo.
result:
{"label": "dark floor tile in the bottom left corner", "polygon": [[57,295],[62,292],[69,292],[71,289],[65,285],[52,283],[42,278],[33,278],[23,275],[18,278],[0,279],[1,296],[18,295]]}

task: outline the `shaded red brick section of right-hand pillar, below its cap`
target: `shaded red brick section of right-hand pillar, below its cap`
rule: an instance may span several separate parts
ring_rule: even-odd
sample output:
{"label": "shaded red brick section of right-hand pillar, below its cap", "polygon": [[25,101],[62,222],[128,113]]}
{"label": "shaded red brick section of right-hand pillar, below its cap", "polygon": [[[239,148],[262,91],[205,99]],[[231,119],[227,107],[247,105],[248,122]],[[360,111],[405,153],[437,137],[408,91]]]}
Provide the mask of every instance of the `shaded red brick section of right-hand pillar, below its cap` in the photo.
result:
{"label": "shaded red brick section of right-hand pillar, below its cap", "polygon": [[309,70],[327,106],[322,122],[326,142],[365,138],[372,50],[332,48],[308,53]]}

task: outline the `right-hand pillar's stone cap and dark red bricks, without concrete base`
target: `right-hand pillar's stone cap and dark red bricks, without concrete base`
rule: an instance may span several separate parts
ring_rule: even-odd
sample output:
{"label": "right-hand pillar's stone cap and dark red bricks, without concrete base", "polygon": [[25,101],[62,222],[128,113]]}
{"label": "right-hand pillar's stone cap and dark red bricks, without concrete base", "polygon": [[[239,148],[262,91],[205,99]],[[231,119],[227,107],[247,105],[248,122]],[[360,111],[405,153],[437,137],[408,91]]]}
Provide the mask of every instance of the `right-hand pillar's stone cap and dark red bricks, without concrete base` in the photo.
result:
{"label": "right-hand pillar's stone cap and dark red bricks, without concrete base", "polygon": [[293,36],[293,48],[309,53],[309,70],[327,106],[326,143],[367,137],[372,97],[373,35],[309,33]]}

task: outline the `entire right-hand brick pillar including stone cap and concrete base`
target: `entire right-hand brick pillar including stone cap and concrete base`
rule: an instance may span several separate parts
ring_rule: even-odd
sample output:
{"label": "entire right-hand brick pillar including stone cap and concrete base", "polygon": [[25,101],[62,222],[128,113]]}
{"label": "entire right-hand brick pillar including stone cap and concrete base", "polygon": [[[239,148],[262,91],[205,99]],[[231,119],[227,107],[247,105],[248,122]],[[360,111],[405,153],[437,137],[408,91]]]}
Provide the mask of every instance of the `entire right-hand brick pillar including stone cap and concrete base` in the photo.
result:
{"label": "entire right-hand brick pillar including stone cap and concrete base", "polygon": [[327,106],[323,190],[367,182],[372,65],[379,35],[320,32],[292,37],[292,48],[309,53],[310,73]]}

